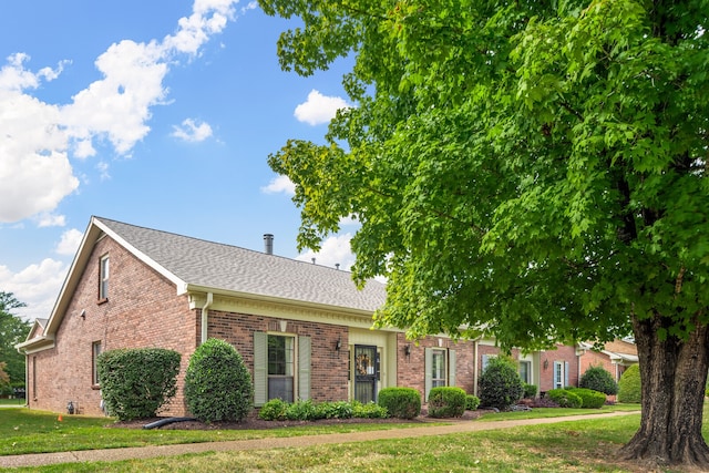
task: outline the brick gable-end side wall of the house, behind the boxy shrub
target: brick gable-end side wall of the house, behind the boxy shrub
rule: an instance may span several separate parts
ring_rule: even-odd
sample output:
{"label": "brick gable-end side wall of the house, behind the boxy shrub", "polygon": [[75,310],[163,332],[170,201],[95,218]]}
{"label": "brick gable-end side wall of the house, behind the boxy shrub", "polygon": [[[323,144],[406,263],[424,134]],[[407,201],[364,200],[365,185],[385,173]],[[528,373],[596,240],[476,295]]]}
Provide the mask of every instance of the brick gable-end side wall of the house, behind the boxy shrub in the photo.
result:
{"label": "brick gable-end side wall of the house, behind the boxy shrub", "polygon": [[[109,298],[99,297],[99,259],[109,255]],[[83,317],[81,316],[83,311]],[[181,382],[196,347],[194,312],[175,285],[143,265],[111,238],[100,240],[89,259],[55,335],[55,348],[28,358],[30,408],[66,412],[72,401],[82,414],[101,414],[92,385],[92,343],[116,348],[167,348],[182,353]],[[34,371],[33,371],[34,370]],[[184,412],[182,390],[166,411]]]}

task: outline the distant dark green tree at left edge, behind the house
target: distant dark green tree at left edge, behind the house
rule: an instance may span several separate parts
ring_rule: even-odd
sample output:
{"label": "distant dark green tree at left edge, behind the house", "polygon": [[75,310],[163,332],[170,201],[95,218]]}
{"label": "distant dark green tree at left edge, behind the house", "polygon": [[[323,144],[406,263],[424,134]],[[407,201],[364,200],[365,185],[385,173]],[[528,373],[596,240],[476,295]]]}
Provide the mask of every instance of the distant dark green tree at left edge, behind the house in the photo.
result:
{"label": "distant dark green tree at left edge, behind the house", "polygon": [[12,310],[24,307],[12,292],[0,291],[0,361],[7,363],[4,372],[11,383],[24,382],[24,354],[14,348],[24,341],[30,332],[30,322],[12,313]]}

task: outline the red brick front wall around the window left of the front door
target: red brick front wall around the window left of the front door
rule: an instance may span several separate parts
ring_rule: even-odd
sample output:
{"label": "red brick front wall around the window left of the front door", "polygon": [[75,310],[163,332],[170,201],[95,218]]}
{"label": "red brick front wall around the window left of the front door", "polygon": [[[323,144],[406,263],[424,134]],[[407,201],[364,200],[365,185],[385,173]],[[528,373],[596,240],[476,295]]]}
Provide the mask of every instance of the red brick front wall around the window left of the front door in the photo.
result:
{"label": "red brick front wall around the window left of the front door", "polygon": [[[232,343],[254,376],[254,332],[279,332],[284,319],[209,311],[209,338]],[[348,399],[348,329],[329,323],[286,320],[285,333],[310,337],[310,399],[316,402]],[[340,340],[341,349],[335,349]]]}

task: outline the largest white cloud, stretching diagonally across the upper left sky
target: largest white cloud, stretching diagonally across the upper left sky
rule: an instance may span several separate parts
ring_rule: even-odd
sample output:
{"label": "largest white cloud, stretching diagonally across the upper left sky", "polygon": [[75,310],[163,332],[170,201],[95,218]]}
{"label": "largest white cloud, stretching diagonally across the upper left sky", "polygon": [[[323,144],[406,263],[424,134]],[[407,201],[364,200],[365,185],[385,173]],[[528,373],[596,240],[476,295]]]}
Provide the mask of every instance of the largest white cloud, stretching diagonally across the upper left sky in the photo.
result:
{"label": "largest white cloud, stretching diagonally across the upper left sky", "polygon": [[[94,140],[105,140],[119,155],[130,155],[150,132],[151,109],[166,104],[164,84],[177,54],[198,55],[199,48],[235,17],[236,0],[195,0],[193,13],[177,21],[162,41],[112,44],[96,61],[102,78],[64,105],[42,102],[32,91],[56,79],[55,69],[25,69],[25,53],[0,68],[0,223],[50,214],[79,187],[70,158],[96,155]],[[184,124],[184,123],[183,123]],[[206,125],[208,127],[208,125]],[[208,132],[199,126],[191,136]],[[210,132],[209,132],[210,133]],[[107,178],[107,166],[99,166]]]}

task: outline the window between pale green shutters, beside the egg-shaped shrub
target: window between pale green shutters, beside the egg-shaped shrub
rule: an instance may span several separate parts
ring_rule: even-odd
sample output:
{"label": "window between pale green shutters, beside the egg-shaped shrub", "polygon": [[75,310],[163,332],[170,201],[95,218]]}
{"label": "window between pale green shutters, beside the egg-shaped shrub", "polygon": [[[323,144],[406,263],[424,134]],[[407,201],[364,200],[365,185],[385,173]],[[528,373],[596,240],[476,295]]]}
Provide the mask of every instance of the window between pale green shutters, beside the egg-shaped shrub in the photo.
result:
{"label": "window between pale green shutters, beside the egg-shaped shrub", "polygon": [[294,402],[294,337],[268,336],[268,399]]}

